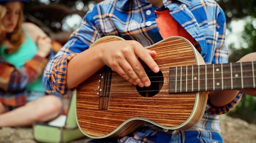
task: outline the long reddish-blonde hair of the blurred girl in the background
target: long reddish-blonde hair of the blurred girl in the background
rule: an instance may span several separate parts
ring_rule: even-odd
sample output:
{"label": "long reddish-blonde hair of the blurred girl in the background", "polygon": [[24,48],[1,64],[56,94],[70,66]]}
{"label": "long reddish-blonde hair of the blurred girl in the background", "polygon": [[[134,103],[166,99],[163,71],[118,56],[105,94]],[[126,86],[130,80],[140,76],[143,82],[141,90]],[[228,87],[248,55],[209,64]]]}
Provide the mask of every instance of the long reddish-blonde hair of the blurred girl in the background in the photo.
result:
{"label": "long reddish-blonde hair of the blurred girl in the background", "polygon": [[[5,52],[6,53],[13,53],[13,52],[16,52],[20,45],[23,43],[23,40],[24,40],[24,34],[23,34],[23,30],[22,30],[22,23],[24,22],[24,16],[23,16],[23,3],[20,2],[20,5],[21,5],[21,8],[22,10],[20,11],[19,13],[19,18],[18,18],[18,22],[17,22],[17,25],[16,27],[14,28],[14,31],[12,33],[5,33],[5,37],[3,40],[8,40],[10,45],[5,49]],[[2,5],[1,4],[1,7],[5,7],[5,5]],[[4,9],[2,10],[1,8],[1,20],[3,19],[2,15],[3,13],[6,13],[6,7],[5,7],[5,12],[4,12]],[[2,13],[3,12],[3,13]],[[2,27],[1,27],[2,28]],[[1,30],[1,36],[2,36],[2,30]],[[1,45],[3,44],[3,41],[2,41],[2,37],[1,37]]]}

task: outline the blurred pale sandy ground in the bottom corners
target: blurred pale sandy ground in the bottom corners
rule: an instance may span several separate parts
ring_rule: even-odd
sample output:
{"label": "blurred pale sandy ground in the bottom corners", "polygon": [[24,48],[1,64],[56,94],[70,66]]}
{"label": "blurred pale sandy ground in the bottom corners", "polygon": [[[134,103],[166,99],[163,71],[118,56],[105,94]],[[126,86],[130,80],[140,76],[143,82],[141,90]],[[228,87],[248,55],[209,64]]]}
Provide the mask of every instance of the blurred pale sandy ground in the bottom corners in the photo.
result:
{"label": "blurred pale sandy ground in the bottom corners", "polygon": [[[221,129],[225,143],[255,143],[256,125],[248,124],[241,119],[221,116]],[[70,143],[84,142],[84,138]],[[33,139],[32,128],[0,128],[1,143],[37,143]]]}

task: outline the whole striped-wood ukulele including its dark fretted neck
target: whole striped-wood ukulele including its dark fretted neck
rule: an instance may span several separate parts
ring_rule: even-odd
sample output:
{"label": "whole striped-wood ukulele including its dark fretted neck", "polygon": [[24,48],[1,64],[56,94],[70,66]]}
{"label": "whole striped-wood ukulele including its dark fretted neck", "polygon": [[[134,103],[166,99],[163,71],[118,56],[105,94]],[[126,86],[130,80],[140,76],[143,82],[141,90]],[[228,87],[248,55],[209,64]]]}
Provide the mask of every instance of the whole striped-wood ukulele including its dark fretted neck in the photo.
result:
{"label": "whole striped-wood ukulele including its dark fretted neck", "polygon": [[[115,40],[106,36],[93,46]],[[145,66],[151,86],[130,84],[104,67],[79,84],[76,116],[80,130],[91,138],[118,137],[145,123],[168,130],[195,126],[205,111],[208,91],[256,87],[256,62],[205,65],[185,38],[169,37],[146,47],[157,52],[160,72]]]}

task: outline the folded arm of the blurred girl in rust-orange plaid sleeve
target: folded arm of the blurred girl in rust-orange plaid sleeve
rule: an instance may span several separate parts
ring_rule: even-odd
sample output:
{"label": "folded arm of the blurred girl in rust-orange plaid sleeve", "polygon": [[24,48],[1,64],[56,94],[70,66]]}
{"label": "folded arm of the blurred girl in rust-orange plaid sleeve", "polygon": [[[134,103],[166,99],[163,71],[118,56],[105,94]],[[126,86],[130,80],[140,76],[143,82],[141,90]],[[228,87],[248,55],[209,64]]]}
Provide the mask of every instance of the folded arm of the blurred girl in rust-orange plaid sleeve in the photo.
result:
{"label": "folded arm of the blurred girl in rust-orange plaid sleeve", "polygon": [[25,63],[24,67],[15,68],[0,57],[0,89],[5,92],[24,90],[29,83],[42,74],[47,62],[47,59],[35,55]]}

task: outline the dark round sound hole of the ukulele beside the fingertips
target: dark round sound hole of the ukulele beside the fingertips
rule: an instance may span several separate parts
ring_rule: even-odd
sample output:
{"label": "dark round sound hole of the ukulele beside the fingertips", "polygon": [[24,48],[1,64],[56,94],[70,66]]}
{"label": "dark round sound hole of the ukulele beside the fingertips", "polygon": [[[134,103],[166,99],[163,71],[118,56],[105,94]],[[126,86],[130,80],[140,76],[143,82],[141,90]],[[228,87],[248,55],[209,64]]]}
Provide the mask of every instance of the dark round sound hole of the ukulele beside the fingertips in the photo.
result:
{"label": "dark round sound hole of the ukulele beside the fingertips", "polygon": [[136,90],[141,96],[152,97],[159,93],[163,87],[163,73],[159,71],[154,73],[150,68],[144,68],[147,76],[150,78],[151,85],[149,87],[139,87],[136,85]]}

